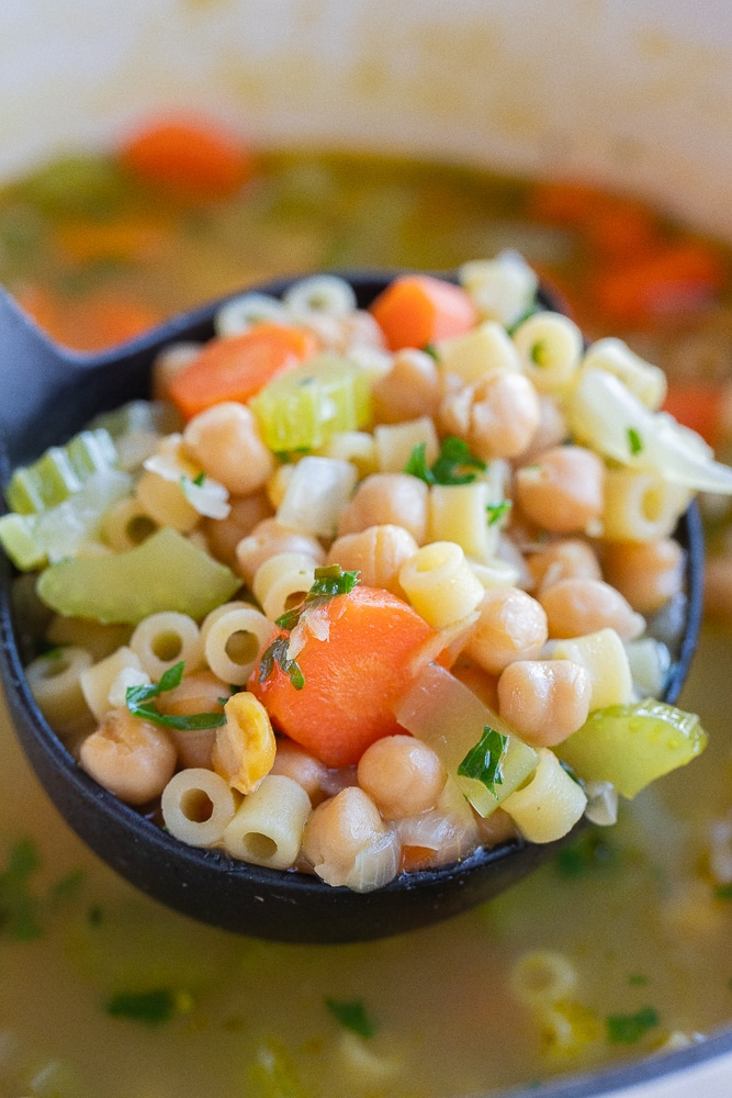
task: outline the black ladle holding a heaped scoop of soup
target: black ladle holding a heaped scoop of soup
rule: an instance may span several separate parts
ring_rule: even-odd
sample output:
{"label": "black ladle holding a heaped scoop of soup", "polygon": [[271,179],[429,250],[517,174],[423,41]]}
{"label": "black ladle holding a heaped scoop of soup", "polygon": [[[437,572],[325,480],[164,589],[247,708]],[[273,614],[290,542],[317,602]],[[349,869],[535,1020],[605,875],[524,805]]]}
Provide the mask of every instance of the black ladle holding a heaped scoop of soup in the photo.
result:
{"label": "black ladle holding a heaped scoop of soup", "polygon": [[[360,306],[395,272],[346,273]],[[259,290],[281,295],[293,280]],[[548,307],[554,304],[544,295]],[[150,363],[178,340],[205,340],[222,302],[176,317],[101,355],[53,344],[0,289],[0,433],[2,483],[10,471],[65,441],[94,415],[148,394]],[[678,534],[687,549],[686,621],[664,697],[674,702],[699,629],[703,539],[691,507]],[[1,554],[0,554],[1,556]],[[117,800],[76,763],[38,710],[21,659],[23,623],[13,619],[13,573],[0,565],[0,672],[15,730],[46,792],[74,830],[122,876],[161,903],[238,933],[294,942],[382,938],[446,919],[497,896],[551,858],[560,843],[516,839],[477,850],[459,864],[403,874],[367,894],[334,888],[305,873],[233,861],[173,839]]]}

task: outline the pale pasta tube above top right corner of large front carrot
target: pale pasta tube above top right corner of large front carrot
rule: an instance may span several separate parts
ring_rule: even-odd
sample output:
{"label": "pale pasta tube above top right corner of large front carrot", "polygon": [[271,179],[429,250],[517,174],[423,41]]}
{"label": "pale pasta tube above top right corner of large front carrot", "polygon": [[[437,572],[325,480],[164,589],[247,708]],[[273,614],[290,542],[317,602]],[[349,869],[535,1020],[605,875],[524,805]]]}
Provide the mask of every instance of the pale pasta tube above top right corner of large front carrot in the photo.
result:
{"label": "pale pasta tube above top right corner of large front carrot", "polygon": [[483,584],[454,541],[431,541],[399,569],[399,583],[418,614],[436,629],[471,614]]}

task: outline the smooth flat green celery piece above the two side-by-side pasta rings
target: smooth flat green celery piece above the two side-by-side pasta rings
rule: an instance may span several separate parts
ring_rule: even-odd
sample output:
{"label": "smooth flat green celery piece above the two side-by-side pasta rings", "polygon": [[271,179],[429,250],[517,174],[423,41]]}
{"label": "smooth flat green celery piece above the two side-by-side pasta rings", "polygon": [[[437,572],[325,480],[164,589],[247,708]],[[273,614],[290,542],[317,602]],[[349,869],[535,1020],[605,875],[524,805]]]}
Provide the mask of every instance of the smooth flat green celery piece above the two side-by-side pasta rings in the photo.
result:
{"label": "smooth flat green celery piece above the two side-by-side pasta rings", "polygon": [[160,610],[201,619],[240,586],[225,564],[165,527],[127,552],[49,565],[37,592],[58,614],[136,625]]}

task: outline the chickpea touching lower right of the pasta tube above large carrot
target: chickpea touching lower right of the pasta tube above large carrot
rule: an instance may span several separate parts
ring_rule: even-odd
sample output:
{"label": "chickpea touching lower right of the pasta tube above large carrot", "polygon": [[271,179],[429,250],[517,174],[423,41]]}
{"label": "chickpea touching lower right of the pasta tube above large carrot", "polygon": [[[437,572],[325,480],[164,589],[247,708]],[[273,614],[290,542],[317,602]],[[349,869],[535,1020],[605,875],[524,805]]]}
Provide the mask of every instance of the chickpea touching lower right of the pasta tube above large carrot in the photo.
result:
{"label": "chickpea touching lower right of the pasta tube above large carrot", "polygon": [[534,659],[547,642],[547,613],[520,587],[486,591],[477,609],[465,653],[492,674],[514,660]]}

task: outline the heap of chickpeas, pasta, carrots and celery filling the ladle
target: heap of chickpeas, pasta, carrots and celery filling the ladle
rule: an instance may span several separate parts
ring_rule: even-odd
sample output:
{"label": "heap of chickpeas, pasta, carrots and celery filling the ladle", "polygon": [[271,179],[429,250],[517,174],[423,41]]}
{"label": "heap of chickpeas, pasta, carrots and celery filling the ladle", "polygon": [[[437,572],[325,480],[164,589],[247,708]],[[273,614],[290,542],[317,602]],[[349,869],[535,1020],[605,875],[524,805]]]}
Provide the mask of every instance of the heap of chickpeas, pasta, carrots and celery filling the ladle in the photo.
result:
{"label": "heap of chickpeas, pasta, carrots and celery filling the ladle", "polygon": [[[142,441],[95,425],[124,475],[93,522],[61,449],[15,471],[0,539],[63,645],[29,683],[97,781],[182,842],[367,892],[610,824],[702,750],[646,697],[672,662],[649,621],[684,598],[679,515],[732,472],[537,284],[507,253],[368,310],[333,276],[245,294],[161,357]],[[256,383],[221,400],[214,359]],[[570,976],[528,959],[517,995]]]}

